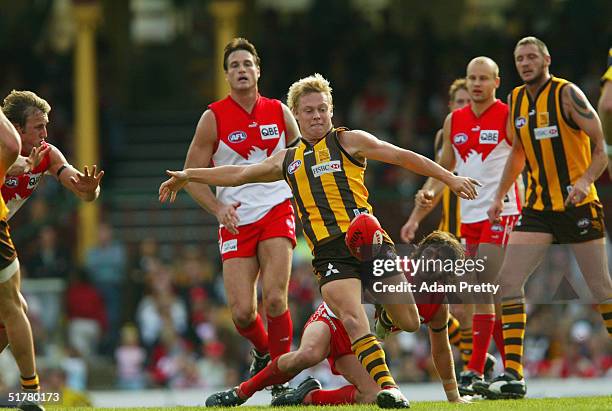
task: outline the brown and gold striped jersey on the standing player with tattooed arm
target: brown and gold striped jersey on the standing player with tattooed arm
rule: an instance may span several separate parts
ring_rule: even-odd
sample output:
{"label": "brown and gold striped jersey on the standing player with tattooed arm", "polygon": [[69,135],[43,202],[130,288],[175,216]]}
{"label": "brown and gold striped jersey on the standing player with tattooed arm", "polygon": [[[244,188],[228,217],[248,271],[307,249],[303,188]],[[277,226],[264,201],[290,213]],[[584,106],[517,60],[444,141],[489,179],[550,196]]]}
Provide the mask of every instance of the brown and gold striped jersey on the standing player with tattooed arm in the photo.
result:
{"label": "brown and gold striped jersey on the standing player with tattooed arm", "polygon": [[[525,85],[512,90],[510,113],[527,158],[525,208],[565,211],[567,195],[591,164],[589,136],[565,118],[567,80],[551,77],[532,100]],[[595,185],[577,206],[598,200]]]}

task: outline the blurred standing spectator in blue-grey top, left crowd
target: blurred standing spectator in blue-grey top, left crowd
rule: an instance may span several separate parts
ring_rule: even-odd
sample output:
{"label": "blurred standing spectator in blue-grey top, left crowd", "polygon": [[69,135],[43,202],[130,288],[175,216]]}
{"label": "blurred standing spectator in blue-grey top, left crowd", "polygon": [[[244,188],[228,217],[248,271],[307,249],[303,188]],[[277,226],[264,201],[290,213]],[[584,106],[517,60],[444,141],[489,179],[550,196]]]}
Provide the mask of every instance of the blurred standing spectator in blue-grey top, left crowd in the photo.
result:
{"label": "blurred standing spectator in blue-grey top, left crowd", "polygon": [[85,267],[106,306],[109,332],[103,348],[105,352],[112,352],[119,339],[126,253],[123,243],[113,239],[113,229],[108,223],[100,224],[98,244],[88,250]]}

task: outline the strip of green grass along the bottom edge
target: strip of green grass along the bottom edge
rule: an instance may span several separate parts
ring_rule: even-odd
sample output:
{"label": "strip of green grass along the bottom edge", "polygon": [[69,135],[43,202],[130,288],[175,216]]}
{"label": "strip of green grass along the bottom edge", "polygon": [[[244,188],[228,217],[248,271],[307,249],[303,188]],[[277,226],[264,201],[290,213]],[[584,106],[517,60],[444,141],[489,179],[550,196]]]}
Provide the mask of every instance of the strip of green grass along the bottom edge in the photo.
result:
{"label": "strip of green grass along the bottom edge", "polygon": [[[66,409],[59,406],[47,406],[47,410],[62,410]],[[201,411],[204,407],[167,407],[167,408],[71,408],[71,410],[120,410],[120,411]],[[328,406],[328,407],[239,407],[239,408],[215,408],[215,410],[232,409],[235,411],[262,411],[266,409],[273,410],[339,410],[339,411],[370,411],[379,410],[375,405],[346,405],[346,406]],[[425,410],[468,410],[468,411],[594,411],[594,410],[612,410],[612,395],[607,397],[573,397],[573,398],[527,398],[524,400],[499,400],[499,401],[475,401],[472,404],[449,404],[447,402],[415,402],[410,408],[416,411]]]}

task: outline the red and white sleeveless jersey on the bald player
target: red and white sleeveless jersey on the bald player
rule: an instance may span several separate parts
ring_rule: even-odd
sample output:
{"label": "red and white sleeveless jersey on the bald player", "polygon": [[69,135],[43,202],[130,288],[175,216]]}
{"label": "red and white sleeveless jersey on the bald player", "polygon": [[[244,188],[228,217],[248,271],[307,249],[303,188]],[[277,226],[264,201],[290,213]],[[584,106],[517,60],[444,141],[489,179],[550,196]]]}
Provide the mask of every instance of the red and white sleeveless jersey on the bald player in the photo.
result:
{"label": "red and white sleeveless jersey on the bald player", "polygon": [[[478,197],[461,201],[461,222],[476,223],[486,220],[497,186],[501,180],[506,160],[512,146],[506,136],[508,105],[496,100],[480,117],[471,106],[451,114],[451,143],[455,151],[455,172],[480,181]],[[516,182],[504,198],[501,215],[519,214],[518,186]]]}

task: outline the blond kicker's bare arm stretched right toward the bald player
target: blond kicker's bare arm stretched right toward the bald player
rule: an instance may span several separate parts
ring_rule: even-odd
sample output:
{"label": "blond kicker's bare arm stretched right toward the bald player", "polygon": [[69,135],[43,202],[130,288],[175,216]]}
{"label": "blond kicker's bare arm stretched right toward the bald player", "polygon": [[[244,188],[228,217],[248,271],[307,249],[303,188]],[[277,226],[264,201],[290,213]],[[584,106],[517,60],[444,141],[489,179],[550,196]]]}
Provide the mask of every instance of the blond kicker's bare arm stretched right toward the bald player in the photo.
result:
{"label": "blond kicker's bare arm stretched right toward the bald player", "polygon": [[440,180],[459,197],[473,200],[480,183],[470,177],[455,176],[425,156],[379,140],[362,130],[345,131],[339,135],[340,144],[357,159],[372,159],[395,164],[414,173]]}

